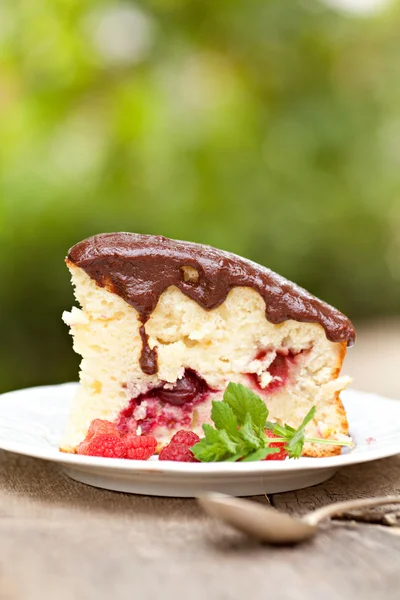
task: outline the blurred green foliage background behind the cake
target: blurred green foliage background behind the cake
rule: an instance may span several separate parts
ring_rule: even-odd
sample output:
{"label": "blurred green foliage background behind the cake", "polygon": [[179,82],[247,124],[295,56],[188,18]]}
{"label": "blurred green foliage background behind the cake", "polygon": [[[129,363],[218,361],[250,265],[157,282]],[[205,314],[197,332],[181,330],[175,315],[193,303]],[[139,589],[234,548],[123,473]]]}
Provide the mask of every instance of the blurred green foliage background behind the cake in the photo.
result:
{"label": "blurred green foliage background behind the cake", "polygon": [[400,313],[399,31],[383,0],[2,0],[0,391],[76,379],[63,259],[103,231]]}

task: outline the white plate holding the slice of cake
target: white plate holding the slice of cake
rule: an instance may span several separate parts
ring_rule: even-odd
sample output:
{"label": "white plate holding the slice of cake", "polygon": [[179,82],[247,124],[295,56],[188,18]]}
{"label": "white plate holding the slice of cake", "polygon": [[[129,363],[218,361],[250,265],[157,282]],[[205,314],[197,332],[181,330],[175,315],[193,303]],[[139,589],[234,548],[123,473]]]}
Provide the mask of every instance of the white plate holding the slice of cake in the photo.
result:
{"label": "white plate holding the slice of cake", "polygon": [[29,388],[0,396],[0,448],[62,465],[78,481],[152,496],[193,497],[205,490],[234,496],[278,493],[322,483],[340,467],[400,452],[400,401],[350,390],[342,394],[352,450],[329,458],[254,463],[134,461],[65,454],[58,444],[77,384]]}

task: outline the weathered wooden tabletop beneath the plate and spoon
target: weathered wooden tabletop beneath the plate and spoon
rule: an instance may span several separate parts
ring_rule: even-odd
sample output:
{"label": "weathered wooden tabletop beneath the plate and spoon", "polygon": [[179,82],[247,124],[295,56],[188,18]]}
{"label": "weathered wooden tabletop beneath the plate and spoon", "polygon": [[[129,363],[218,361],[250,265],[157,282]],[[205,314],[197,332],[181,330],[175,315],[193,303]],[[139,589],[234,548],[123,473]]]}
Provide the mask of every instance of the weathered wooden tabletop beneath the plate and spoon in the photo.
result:
{"label": "weathered wooden tabletop beneath the plate and spoon", "polygon": [[[271,502],[303,512],[391,493],[400,455]],[[363,518],[376,522],[335,521],[305,545],[261,546],[193,500],[97,490],[0,451],[0,599],[398,600],[400,528],[380,511]]]}

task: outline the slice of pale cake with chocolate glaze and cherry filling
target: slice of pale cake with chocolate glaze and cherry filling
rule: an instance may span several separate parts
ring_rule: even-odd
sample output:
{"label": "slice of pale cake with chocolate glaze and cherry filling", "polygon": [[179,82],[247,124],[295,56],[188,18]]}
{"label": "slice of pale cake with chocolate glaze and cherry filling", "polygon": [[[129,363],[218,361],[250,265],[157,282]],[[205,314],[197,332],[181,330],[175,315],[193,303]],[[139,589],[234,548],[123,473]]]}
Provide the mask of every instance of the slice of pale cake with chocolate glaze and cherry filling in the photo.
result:
{"label": "slice of pale cake with chocolate glaze and cherry filling", "polygon": [[161,236],[97,235],[66,262],[82,308],[63,318],[82,363],[63,451],[75,452],[98,418],[160,445],[181,429],[201,435],[230,381],[293,427],[315,405],[309,437],[348,433],[339,394],[349,379],[339,372],[354,328],[304,289],[234,254]]}

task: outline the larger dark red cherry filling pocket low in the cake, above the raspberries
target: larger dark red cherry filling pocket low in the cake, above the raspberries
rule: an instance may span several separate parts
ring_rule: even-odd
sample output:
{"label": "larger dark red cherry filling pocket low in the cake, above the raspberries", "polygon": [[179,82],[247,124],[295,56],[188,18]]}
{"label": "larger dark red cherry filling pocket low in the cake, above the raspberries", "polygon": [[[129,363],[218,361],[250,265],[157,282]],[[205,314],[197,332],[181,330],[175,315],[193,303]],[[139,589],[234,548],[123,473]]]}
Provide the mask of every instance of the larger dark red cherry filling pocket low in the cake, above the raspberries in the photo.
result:
{"label": "larger dark red cherry filling pocket low in the cake, above the raspberries", "polygon": [[129,406],[121,411],[116,426],[121,433],[136,432],[140,426],[145,434],[159,426],[169,429],[178,424],[190,427],[194,406],[206,400],[211,391],[195,371],[185,369],[183,377],[173,387],[163,383],[133,398]]}

